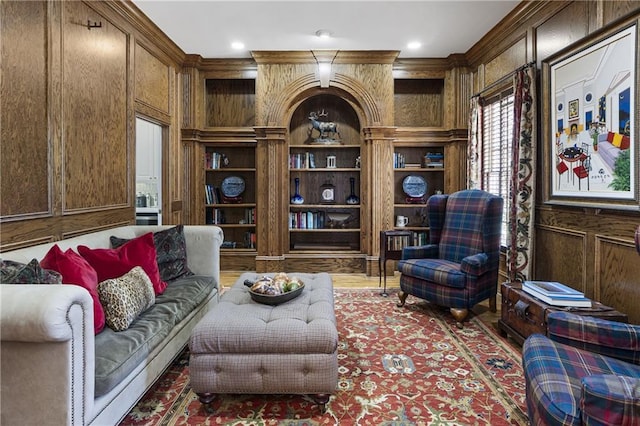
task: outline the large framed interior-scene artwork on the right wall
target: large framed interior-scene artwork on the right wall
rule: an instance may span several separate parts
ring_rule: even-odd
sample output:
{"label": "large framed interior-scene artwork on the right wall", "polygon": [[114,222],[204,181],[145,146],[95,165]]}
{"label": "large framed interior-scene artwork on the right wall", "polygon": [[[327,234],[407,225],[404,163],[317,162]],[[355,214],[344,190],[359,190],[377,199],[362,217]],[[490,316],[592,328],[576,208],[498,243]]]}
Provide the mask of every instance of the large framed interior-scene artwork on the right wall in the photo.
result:
{"label": "large framed interior-scene artwork on the right wall", "polygon": [[638,19],[542,61],[545,201],[640,210]]}

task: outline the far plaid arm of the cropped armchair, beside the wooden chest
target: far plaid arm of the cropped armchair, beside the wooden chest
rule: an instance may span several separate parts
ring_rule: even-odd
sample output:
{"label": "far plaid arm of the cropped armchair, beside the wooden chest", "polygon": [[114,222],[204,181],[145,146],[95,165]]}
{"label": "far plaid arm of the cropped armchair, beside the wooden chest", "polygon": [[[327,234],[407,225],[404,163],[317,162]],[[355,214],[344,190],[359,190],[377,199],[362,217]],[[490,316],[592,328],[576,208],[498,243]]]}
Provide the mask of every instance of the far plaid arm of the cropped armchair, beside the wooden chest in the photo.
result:
{"label": "far plaid arm of the cropped armchair, beside the wooden chest", "polygon": [[549,338],[640,365],[640,326],[570,312],[547,315]]}

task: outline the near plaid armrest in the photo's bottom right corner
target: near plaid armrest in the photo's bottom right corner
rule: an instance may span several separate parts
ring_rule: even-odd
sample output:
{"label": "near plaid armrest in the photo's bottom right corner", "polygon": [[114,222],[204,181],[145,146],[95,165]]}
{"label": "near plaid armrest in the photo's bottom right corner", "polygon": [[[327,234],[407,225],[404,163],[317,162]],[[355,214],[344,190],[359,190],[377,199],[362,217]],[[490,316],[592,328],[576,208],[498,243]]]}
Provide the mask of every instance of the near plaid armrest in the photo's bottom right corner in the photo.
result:
{"label": "near plaid armrest in the photo's bottom right corner", "polygon": [[582,379],[583,424],[632,425],[638,412],[640,379],[628,376],[594,375]]}

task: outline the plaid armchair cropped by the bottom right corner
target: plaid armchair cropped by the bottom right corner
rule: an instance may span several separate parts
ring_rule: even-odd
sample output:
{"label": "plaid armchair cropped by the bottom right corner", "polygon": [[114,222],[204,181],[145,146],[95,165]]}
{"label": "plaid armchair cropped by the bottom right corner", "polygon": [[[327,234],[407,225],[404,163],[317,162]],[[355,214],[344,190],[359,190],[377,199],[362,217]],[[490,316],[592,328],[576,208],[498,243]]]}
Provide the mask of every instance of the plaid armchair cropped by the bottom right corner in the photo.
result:
{"label": "plaid armchair cropped by the bottom right corner", "polygon": [[640,425],[640,326],[547,316],[522,348],[531,425]]}

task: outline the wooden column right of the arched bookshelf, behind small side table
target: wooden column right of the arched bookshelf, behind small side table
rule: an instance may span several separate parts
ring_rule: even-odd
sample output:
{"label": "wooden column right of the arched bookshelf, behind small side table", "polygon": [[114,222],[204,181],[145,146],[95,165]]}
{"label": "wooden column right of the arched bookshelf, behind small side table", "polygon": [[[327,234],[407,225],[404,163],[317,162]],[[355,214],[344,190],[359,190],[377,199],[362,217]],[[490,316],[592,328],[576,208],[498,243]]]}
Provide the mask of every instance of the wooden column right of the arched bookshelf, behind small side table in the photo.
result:
{"label": "wooden column right of the arched bookshelf, behind small side table", "polygon": [[363,129],[361,150],[361,247],[367,253],[366,274],[378,275],[380,231],[393,228],[393,140],[396,128]]}

